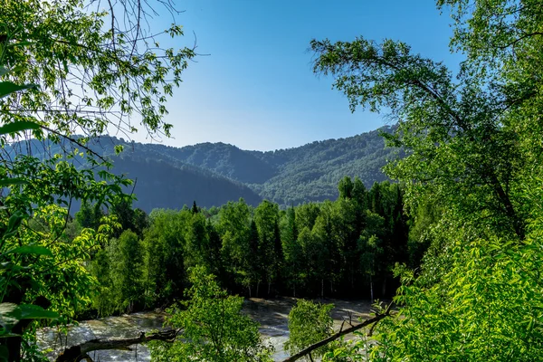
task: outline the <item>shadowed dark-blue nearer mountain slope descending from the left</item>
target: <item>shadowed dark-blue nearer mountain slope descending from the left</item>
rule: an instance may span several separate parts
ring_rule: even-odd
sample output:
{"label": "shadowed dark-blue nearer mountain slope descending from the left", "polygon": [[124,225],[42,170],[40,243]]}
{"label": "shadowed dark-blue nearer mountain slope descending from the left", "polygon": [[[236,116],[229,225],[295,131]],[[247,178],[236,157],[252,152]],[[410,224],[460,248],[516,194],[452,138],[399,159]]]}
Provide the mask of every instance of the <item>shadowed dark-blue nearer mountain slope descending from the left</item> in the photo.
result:
{"label": "shadowed dark-blue nearer mountain slope descending from the left", "polygon": [[[115,145],[119,144],[125,145],[125,150],[116,155]],[[249,205],[258,205],[262,201],[260,195],[238,181],[167,157],[153,147],[145,147],[148,145],[100,137],[90,140],[88,146],[100,156],[110,158],[113,163],[111,172],[124,174],[135,181],[135,185],[126,188],[125,192],[133,191],[137,196],[133,206],[146,212],[154,208],[180,209],[184,205],[191,206],[193,201],[205,207],[224,205],[240,197],[243,197]],[[11,147],[7,146],[5,148],[7,156],[13,158],[15,149],[17,154],[27,154],[31,151],[35,157],[50,157],[56,153],[72,150],[69,143],[57,145],[32,139]],[[81,161],[78,159],[75,162]],[[85,165],[81,164],[81,167]],[[72,204],[74,211],[79,207],[77,202]]]}

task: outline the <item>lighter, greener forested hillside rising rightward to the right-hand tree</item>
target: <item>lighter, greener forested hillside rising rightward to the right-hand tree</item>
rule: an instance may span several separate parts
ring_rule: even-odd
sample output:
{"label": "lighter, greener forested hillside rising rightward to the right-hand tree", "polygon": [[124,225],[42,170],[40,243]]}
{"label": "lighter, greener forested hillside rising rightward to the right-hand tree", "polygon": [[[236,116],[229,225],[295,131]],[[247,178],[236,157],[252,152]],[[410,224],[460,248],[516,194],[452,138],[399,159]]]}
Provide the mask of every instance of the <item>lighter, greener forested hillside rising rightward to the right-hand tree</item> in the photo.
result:
{"label": "lighter, greener forested hillside rising rightward to the right-hand tree", "polygon": [[254,154],[266,160],[278,172],[262,185],[251,185],[263,198],[280,205],[298,205],[308,201],[338,197],[339,180],[358,176],[365,186],[388,179],[381,171],[397,149],[385,148],[383,127],[367,133],[339,139],[316,141],[300,148]]}

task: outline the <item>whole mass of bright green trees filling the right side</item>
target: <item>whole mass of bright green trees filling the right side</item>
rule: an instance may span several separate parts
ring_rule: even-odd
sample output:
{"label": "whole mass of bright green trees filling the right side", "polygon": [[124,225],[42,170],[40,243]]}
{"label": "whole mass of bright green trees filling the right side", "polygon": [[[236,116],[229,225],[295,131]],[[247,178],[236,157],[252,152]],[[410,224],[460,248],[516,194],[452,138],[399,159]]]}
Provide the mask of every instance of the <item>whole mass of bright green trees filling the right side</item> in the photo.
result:
{"label": "whole mass of bright green trees filling the right side", "polygon": [[[315,71],[336,77],[351,110],[397,119],[386,138],[406,157],[386,172],[405,182],[407,211],[440,211],[421,270],[397,269],[398,318],[376,328],[369,359],[537,360],[541,2],[437,4],[452,12],[452,50],[467,56],[456,80],[405,43],[311,43]],[[344,357],[362,360],[359,351]]]}

